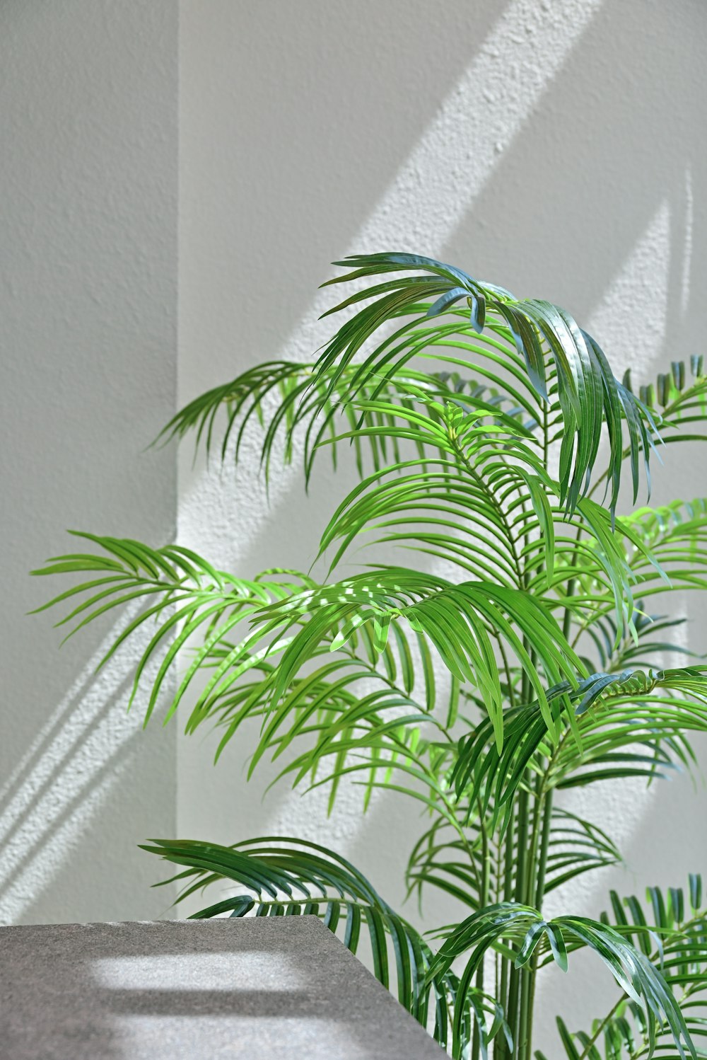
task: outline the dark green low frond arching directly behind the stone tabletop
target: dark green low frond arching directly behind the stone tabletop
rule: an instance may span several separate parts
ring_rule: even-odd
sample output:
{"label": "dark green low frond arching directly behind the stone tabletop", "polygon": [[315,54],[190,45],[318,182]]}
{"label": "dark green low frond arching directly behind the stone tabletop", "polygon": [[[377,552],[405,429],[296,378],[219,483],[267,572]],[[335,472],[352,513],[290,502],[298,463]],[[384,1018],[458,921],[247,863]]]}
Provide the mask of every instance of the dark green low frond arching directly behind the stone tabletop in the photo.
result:
{"label": "dark green low frond arching directly behind the stone tabletop", "polygon": [[[424,938],[396,914],[373,884],[340,854],[315,843],[265,836],[231,847],[195,841],[151,840],[142,849],[186,869],[163,881],[181,884],[178,902],[215,884],[237,890],[192,914],[203,919],[316,916],[340,932],[352,953],[367,939],[373,970],[423,1026],[434,1013],[434,1037],[441,1045],[455,1025],[458,980],[453,972],[430,976],[433,954]],[[163,885],[161,884],[161,885]],[[466,1036],[476,1024],[486,1044],[507,1027],[497,1003],[479,991],[459,1002],[457,1022]]]}

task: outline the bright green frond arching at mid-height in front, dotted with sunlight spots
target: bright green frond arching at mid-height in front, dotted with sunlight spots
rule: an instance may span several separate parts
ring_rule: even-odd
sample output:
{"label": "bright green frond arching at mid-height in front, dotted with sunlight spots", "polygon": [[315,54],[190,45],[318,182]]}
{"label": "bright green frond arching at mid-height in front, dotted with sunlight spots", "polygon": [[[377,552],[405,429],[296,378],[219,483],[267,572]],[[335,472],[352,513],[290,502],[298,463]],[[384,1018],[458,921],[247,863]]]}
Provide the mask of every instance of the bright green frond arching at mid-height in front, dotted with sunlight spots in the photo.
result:
{"label": "bright green frond arching at mid-height in front, dotted with sunlight spots", "polygon": [[337,650],[367,626],[373,630],[376,649],[381,651],[393,619],[404,620],[423,635],[453,677],[478,689],[501,746],[503,690],[491,631],[523,667],[549,731],[556,730],[541,674],[549,683],[564,676],[574,686],[583,666],[543,605],[521,590],[490,582],[455,585],[403,567],[357,575],[261,610],[258,621],[262,625],[254,636],[276,633],[274,642],[282,643],[282,638],[296,626],[273,682],[273,707],[282,703],[303,660],[324,638],[333,636],[331,650]]}

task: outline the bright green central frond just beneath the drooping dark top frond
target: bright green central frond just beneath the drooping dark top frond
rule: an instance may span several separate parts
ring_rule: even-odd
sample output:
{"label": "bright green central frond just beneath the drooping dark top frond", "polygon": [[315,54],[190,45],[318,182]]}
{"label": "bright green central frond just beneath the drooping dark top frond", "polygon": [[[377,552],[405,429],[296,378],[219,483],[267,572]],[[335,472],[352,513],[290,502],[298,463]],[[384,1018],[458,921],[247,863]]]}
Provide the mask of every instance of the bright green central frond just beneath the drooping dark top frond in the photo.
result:
{"label": "bright green central frond just beneath the drooping dark top frond", "polygon": [[[476,399],[455,399],[442,405],[418,393],[413,407],[401,408],[384,402],[357,402],[355,407],[366,414],[374,413],[377,420],[385,418],[394,422],[393,426],[362,426],[356,437],[384,434],[413,442],[418,454],[436,450],[439,456],[388,463],[349,494],[322,538],[322,549],[343,538],[332,566],[371,519],[383,519],[376,526],[387,530],[384,541],[410,537],[418,551],[452,558],[468,570],[474,569],[473,558],[469,544],[460,538],[465,530],[467,534],[470,530],[481,531],[489,538],[491,547],[487,553],[492,554],[493,546],[498,545],[501,556],[497,571],[477,560],[478,569],[492,570],[506,583],[519,585],[520,533],[512,534],[503,500],[519,489],[527,492],[528,480],[531,488],[538,481],[532,497],[539,507],[539,517],[548,511],[541,488],[546,484],[547,476],[532,434],[512,417]],[[513,463],[508,460],[509,452]],[[425,502],[430,492],[432,496]],[[427,520],[425,512],[430,513]],[[396,535],[388,528],[400,527],[401,515],[407,532]],[[416,532],[420,515],[423,530]]]}

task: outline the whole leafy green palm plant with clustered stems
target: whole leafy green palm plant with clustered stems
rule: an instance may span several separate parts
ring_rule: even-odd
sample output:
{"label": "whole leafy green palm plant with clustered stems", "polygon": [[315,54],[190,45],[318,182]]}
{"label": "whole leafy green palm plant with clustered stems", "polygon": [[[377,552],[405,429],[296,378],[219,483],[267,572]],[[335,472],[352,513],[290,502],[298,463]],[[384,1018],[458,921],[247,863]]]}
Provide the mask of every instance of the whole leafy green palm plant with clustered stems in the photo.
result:
{"label": "whole leafy green palm plant with clustered stems", "polygon": [[[195,431],[211,450],[222,429],[221,456],[237,459],[260,430],[266,478],[301,454],[309,481],[322,453],[336,466],[350,452],[360,480],[322,534],[323,577],[247,580],[178,545],[88,533],[89,551],[37,573],[80,576],[46,605],[68,608],[57,624],[70,633],[141,602],[104,661],[150,623],[133,687],[155,660],[148,717],[189,648],[165,716],[186,711],[187,732],[215,723],[218,754],[255,721],[251,773],[279,759],[295,787],[327,784],[330,806],[344,778],[362,783],[364,806],[378,788],[416,800],[409,894],[447,893],[468,915],[423,936],[311,842],[145,849],[180,866],[182,898],[230,886],[197,916],[313,914],[355,952],[365,937],[376,975],[454,1057],[528,1060],[538,975],[581,948],[614,976],[617,1003],[590,1032],[558,1021],[567,1057],[707,1056],[694,1044],[699,876],[647,905],[612,893],[599,920],[543,916],[552,890],[620,859],[556,791],[691,768],[691,734],[707,728],[707,667],[656,665],[676,622],[651,606],[707,585],[705,501],[617,512],[627,476],[635,506],[655,445],[703,437],[702,358],[637,395],[548,302],[411,254],[336,264],[349,271],[328,282],[354,293],[329,311],[346,320],[312,364],[249,370],[162,436]],[[415,566],[337,580],[364,542]]]}

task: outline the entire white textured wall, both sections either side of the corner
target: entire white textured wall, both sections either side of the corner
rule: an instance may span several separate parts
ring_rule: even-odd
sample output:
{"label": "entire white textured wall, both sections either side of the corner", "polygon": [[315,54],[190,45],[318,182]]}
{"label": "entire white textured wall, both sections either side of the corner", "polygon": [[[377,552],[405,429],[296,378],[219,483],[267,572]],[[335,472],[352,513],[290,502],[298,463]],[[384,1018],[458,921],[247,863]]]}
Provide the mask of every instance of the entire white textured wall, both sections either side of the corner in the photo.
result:
{"label": "entire white textured wall, both sections either side of the corner", "polygon": [[[560,302],[650,378],[702,352],[706,23],[701,0],[5,0],[0,921],[160,914],[146,833],[313,835],[402,894],[419,824],[402,800],[362,819],[347,794],[329,822],[318,798],[261,802],[246,746],[214,768],[209,736],[138,734],[129,659],[89,682],[109,625],[58,653],[49,620],[24,618],[48,590],[25,571],[65,527],[160,543],[179,499],[180,540],[220,565],[306,567],[346,489],[325,475],[306,502],[292,471],[268,508],[255,464],[193,471],[184,450],[178,498],[174,452],[142,454],[175,408],[178,205],[179,404],[308,356],[328,263],[380,248]],[[686,460],[668,454],[656,500],[707,493]],[[704,647],[704,607],[682,606]],[[587,815],[642,888],[706,867],[704,811],[677,780],[606,790]],[[596,915],[617,879],[567,904]],[[587,1010],[581,974],[550,980],[545,1028],[556,1007],[577,1025],[599,1011],[597,991]]]}

